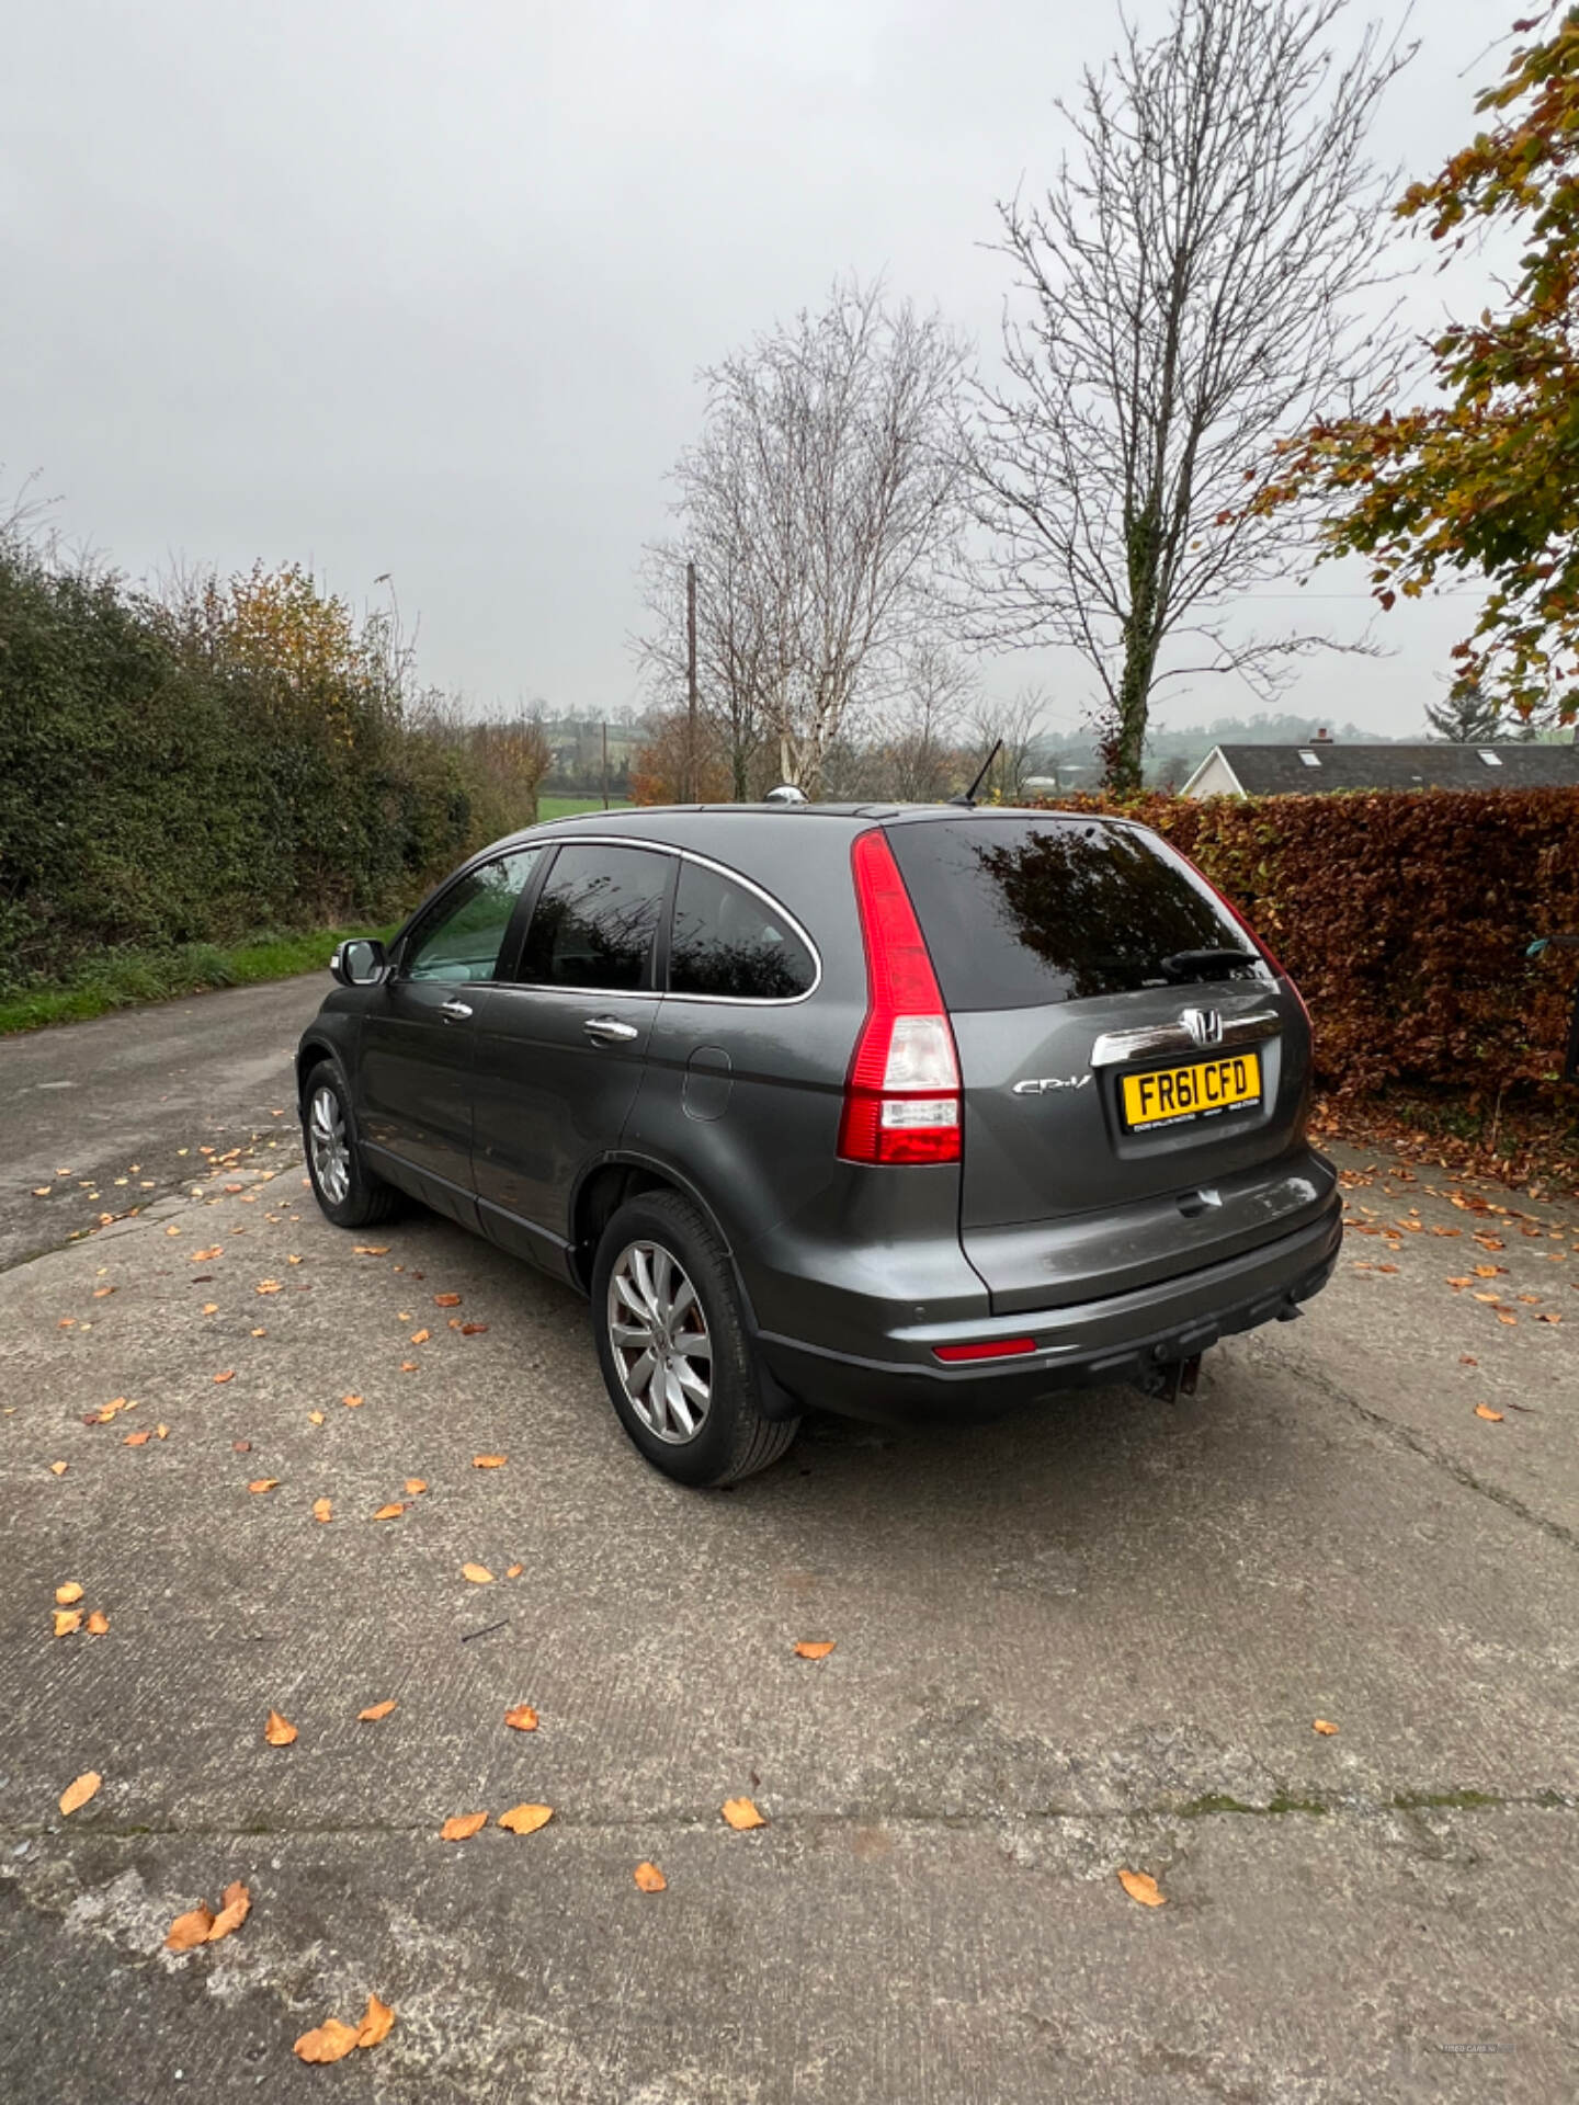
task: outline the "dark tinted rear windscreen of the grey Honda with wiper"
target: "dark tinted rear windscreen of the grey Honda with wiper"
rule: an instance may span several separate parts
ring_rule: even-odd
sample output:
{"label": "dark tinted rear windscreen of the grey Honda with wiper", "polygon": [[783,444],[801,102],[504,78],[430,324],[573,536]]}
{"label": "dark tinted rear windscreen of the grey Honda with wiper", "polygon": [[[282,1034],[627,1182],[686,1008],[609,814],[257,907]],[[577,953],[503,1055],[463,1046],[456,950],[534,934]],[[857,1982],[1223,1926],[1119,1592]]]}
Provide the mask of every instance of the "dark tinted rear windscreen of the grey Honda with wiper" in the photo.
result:
{"label": "dark tinted rear windscreen of the grey Honda with wiper", "polygon": [[[1032,1008],[1261,973],[1211,890],[1143,834],[1097,819],[937,819],[888,846],[950,1008]],[[1192,951],[1234,949],[1192,962]]]}

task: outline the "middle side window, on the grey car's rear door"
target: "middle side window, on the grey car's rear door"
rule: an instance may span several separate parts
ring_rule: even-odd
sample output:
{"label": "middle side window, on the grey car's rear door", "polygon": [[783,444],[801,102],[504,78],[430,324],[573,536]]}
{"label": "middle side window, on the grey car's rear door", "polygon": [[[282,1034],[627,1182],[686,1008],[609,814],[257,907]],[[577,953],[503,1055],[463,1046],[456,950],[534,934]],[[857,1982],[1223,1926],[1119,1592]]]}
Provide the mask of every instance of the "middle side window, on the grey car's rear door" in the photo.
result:
{"label": "middle side window, on the grey car's rear door", "polygon": [[560,848],[533,909],[520,977],[535,987],[632,994],[646,981],[669,857],[646,848]]}

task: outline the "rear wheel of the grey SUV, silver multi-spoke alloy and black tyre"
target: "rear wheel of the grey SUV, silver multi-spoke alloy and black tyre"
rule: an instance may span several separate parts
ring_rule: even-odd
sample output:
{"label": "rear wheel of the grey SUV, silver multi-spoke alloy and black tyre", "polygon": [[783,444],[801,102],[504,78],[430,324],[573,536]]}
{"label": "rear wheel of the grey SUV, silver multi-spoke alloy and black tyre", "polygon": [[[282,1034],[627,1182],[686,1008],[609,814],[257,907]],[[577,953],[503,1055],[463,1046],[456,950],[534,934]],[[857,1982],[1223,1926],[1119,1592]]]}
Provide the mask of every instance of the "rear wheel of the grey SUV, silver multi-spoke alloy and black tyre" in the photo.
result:
{"label": "rear wheel of the grey SUV, silver multi-spoke alloy and black tyre", "polygon": [[762,1412],[762,1370],[735,1276],[678,1191],[627,1200],[598,1242],[592,1328],[634,1444],[676,1484],[735,1484],[792,1446],[800,1419]]}

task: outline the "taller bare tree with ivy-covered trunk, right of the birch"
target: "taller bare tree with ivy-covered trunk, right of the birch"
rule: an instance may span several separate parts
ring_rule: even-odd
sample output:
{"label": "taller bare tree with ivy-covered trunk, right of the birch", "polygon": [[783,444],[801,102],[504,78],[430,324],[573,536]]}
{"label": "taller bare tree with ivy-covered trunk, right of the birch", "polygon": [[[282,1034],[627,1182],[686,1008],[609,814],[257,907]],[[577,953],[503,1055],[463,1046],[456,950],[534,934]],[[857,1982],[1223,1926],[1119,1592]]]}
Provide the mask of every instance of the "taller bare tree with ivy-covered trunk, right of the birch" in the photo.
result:
{"label": "taller bare tree with ivy-covered trunk, right of the birch", "polygon": [[1299,507],[1251,509],[1274,440],[1364,415],[1398,362],[1392,320],[1364,318],[1390,192],[1364,141],[1413,46],[1371,25],[1339,63],[1345,4],[1173,0],[1156,42],[1126,23],[1063,107],[1053,187],[998,206],[1030,318],[1006,316],[966,444],[992,535],[975,629],[1086,659],[1118,791],[1162,680],[1232,671],[1267,699],[1337,648],[1240,636],[1230,604],[1310,535]]}

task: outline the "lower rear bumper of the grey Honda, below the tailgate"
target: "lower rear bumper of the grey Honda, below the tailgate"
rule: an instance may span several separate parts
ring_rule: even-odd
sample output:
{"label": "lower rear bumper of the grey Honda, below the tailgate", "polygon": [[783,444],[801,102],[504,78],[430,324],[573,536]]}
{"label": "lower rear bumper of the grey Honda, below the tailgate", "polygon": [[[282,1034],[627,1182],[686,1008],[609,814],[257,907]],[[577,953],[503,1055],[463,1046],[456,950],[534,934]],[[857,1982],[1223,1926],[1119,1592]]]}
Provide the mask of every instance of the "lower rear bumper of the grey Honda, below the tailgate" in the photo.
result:
{"label": "lower rear bumper of the grey Honda, below the tailgate", "polygon": [[[758,1345],[775,1381],[811,1408],[880,1423],[990,1419],[1059,1389],[1143,1381],[1236,1330],[1291,1316],[1326,1286],[1341,1242],[1341,1198],[1333,1191],[1316,1221],[1221,1265],[1076,1307],[888,1332],[886,1343],[916,1358],[861,1358],[771,1330]],[[931,1360],[937,1345],[994,1337],[1034,1337],[1038,1349],[979,1366]]]}

